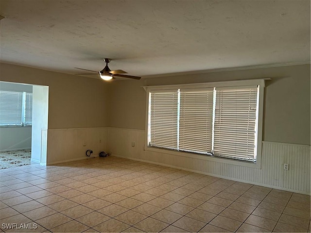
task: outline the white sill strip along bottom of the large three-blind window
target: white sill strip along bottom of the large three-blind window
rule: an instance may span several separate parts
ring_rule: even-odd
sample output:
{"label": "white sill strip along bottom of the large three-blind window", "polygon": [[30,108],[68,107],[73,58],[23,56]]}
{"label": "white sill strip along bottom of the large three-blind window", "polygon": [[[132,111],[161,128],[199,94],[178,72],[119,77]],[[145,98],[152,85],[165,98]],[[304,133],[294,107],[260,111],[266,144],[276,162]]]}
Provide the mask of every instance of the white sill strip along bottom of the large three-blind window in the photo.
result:
{"label": "white sill strip along bottom of the large three-blind window", "polygon": [[261,164],[258,161],[247,162],[247,161],[242,161],[242,160],[214,157],[210,155],[190,153],[190,152],[184,152],[184,151],[174,151],[174,150],[154,148],[154,147],[148,147],[148,146],[145,146],[144,150],[163,153],[163,154],[173,154],[173,155],[178,155],[178,156],[183,156],[183,157],[196,158],[196,159],[201,159],[201,160],[208,160],[208,161],[213,161],[217,163],[224,163],[224,164],[231,164],[231,165],[236,165],[236,166],[245,166],[245,167],[261,169]]}

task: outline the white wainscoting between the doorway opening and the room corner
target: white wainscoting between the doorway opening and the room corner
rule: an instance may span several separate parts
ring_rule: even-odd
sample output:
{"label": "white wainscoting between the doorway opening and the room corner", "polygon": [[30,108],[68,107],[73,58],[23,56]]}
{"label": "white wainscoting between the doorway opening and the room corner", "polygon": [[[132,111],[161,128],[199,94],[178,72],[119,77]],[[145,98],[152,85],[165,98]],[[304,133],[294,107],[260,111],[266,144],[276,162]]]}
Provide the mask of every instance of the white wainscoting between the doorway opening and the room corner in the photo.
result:
{"label": "white wainscoting between the doorway opening and the room corner", "polygon": [[106,142],[107,128],[48,130],[47,164],[86,159],[86,150],[98,157],[100,151],[107,152]]}

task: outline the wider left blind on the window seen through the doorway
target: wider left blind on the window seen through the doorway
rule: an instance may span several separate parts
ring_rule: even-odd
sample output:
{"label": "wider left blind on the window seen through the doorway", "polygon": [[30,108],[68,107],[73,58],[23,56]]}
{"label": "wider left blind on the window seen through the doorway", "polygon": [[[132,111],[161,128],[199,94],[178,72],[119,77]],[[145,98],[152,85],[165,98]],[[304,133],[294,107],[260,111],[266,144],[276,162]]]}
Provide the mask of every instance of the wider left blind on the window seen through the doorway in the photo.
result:
{"label": "wider left blind on the window seen through the doorway", "polygon": [[22,125],[23,93],[0,91],[0,125]]}

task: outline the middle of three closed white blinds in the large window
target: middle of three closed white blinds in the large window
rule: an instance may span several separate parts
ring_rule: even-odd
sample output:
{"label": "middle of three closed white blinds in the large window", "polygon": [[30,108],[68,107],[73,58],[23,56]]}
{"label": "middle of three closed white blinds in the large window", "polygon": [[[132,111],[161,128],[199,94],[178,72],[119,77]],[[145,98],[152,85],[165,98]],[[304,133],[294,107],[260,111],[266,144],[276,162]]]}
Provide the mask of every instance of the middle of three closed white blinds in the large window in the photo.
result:
{"label": "middle of three closed white blinds in the large window", "polygon": [[212,152],[213,89],[180,90],[179,150]]}

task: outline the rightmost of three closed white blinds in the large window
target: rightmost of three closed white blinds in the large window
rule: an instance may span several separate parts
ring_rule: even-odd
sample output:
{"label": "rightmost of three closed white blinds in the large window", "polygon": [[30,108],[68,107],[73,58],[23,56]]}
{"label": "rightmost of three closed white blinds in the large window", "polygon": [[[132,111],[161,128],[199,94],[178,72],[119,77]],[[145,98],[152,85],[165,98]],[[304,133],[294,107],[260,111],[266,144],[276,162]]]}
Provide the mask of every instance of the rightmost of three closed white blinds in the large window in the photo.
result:
{"label": "rightmost of three closed white blinds in the large window", "polygon": [[214,155],[256,159],[258,87],[216,88]]}

